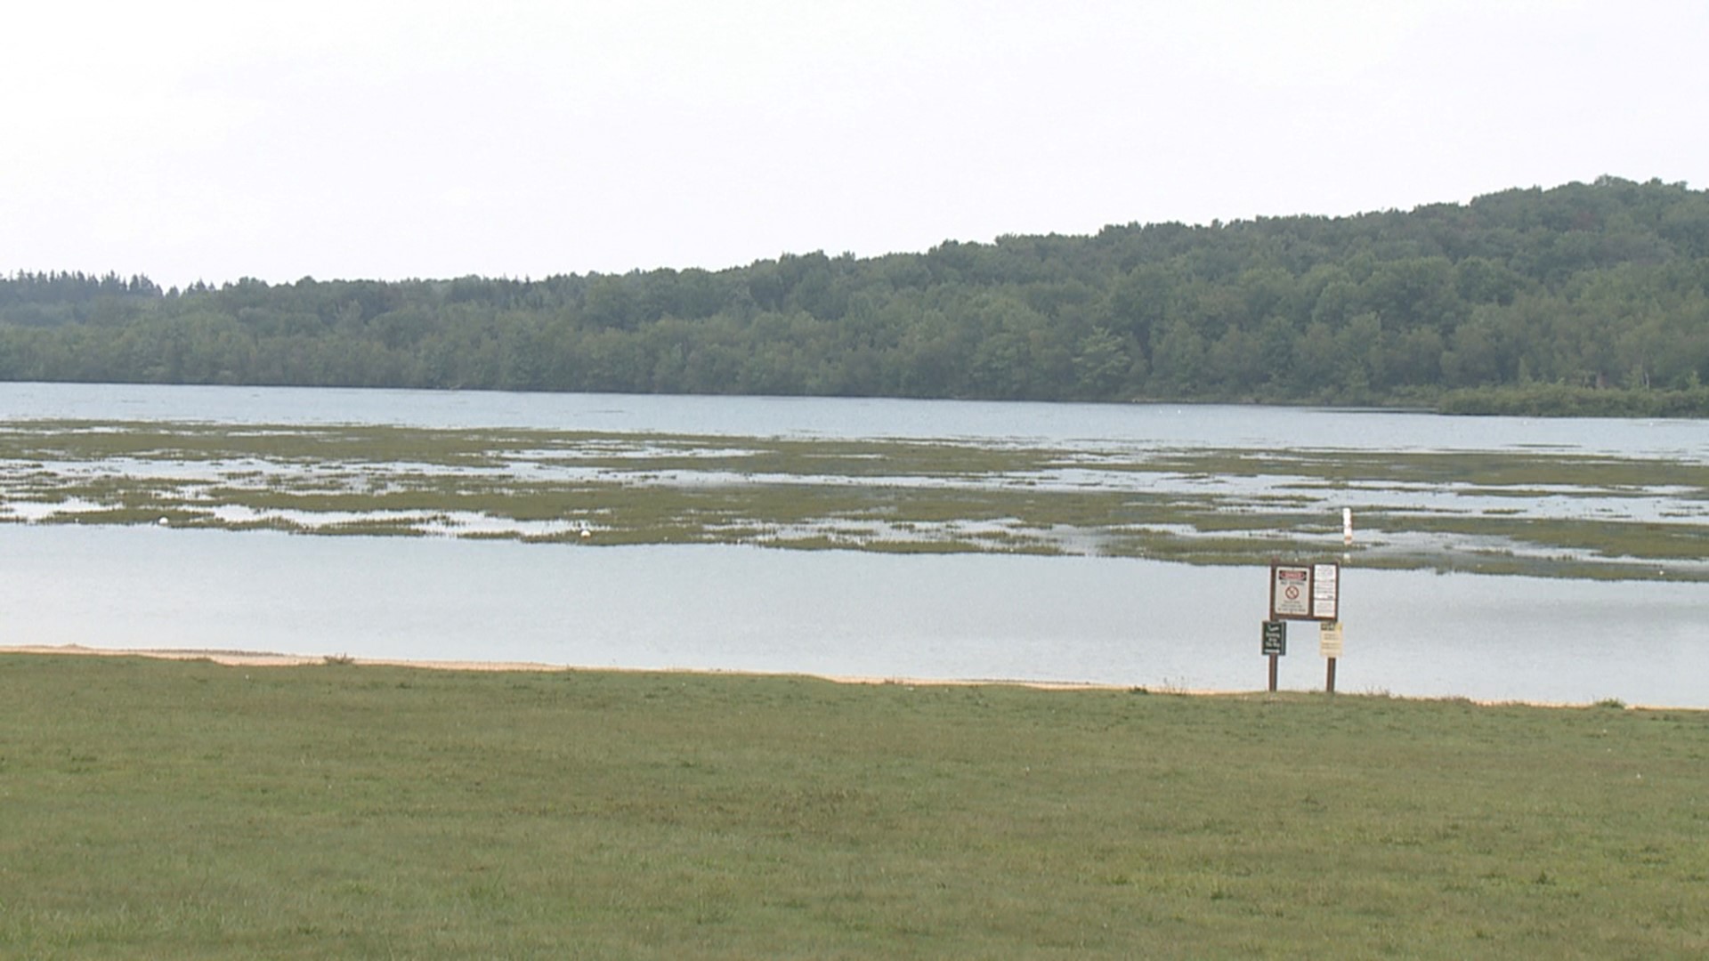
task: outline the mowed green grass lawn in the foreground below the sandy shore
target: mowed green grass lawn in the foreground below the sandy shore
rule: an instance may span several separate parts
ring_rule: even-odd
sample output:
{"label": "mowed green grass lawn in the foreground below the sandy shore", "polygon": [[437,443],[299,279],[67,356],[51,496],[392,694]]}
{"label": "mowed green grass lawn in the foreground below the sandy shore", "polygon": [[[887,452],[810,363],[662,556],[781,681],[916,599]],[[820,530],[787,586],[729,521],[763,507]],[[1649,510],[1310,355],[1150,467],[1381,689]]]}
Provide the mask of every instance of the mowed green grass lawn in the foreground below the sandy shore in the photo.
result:
{"label": "mowed green grass lawn in the foreground below the sandy shore", "polygon": [[1695,958],[1706,891],[1695,711],[0,657],[5,958]]}

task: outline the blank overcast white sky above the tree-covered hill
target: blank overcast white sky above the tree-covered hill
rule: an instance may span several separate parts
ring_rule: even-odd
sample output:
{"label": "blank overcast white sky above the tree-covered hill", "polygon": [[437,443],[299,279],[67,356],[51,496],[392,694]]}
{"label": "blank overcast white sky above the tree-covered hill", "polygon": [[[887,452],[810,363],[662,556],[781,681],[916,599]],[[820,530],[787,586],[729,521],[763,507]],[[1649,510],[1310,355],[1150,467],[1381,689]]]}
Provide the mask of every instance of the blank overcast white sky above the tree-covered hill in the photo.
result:
{"label": "blank overcast white sky above the tree-covered hill", "polygon": [[1702,0],[29,0],[0,272],[721,268],[1702,188],[1706,50]]}

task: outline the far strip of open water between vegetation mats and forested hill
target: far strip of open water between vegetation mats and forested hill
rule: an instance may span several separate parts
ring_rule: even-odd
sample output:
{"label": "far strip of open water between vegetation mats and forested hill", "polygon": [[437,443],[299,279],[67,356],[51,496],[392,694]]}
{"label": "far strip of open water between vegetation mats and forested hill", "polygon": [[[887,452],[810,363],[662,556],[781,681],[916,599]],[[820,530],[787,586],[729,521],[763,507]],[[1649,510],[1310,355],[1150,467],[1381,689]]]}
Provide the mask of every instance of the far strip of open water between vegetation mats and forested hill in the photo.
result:
{"label": "far strip of open water between vegetation mats and forested hill", "polygon": [[1709,462],[1709,426],[1702,421],[1441,417],[1395,410],[1217,404],[0,383],[0,417],[1078,441],[1113,450],[1131,446],[1430,451],[1523,448]]}

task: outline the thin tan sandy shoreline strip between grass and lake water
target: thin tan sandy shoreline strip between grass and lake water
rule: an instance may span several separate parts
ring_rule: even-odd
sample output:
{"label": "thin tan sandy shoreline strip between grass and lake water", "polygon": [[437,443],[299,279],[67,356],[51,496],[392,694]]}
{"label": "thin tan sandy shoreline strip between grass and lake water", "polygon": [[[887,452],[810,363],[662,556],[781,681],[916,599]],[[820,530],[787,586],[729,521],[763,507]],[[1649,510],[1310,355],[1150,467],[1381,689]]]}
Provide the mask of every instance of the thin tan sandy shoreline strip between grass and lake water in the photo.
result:
{"label": "thin tan sandy shoreline strip between grass and lake water", "polygon": [[[1200,691],[1186,687],[1166,687],[1150,691],[1143,684],[1104,684],[1097,681],[1024,681],[1024,679],[943,679],[943,677],[878,677],[854,674],[810,674],[810,672],[774,672],[774,670],[726,670],[711,667],[593,667],[574,663],[540,663],[514,660],[408,660],[408,658],[366,658],[347,655],[291,655],[273,651],[244,650],[191,650],[191,648],[91,648],[84,645],[0,645],[3,655],[53,655],[53,657],[147,657],[156,660],[205,660],[220,667],[313,667],[313,665],[350,665],[350,667],[407,667],[419,670],[479,670],[479,672],[533,672],[533,674],[571,674],[571,672],[612,672],[612,674],[701,674],[731,677],[812,677],[832,684],[901,684],[909,687],[1029,687],[1034,691],[1145,691],[1147,694],[1179,694],[1188,698],[1244,698],[1268,694],[1268,691]],[[1321,691],[1277,691],[1278,694],[1319,694]],[[1343,691],[1347,698],[1381,696],[1400,701],[1466,701],[1485,708],[1526,706],[1526,708],[1593,708],[1594,701],[1523,701],[1523,699],[1477,699],[1456,694],[1446,696],[1412,696],[1412,694],[1362,694]],[[1630,711],[1709,711],[1709,708],[1692,708],[1680,705],[1622,705]]]}

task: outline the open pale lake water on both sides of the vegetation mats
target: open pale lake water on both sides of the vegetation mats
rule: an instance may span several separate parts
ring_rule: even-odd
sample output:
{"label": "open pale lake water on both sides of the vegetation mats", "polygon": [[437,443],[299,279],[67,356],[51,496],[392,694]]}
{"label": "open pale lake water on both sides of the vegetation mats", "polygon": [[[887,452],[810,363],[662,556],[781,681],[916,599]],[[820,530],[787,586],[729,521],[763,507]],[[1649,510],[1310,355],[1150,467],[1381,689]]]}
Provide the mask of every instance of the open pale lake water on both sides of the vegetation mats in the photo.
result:
{"label": "open pale lake water on both sides of the vegetation mats", "polygon": [[[0,385],[0,417],[1709,460],[1694,421]],[[7,469],[7,465],[0,465]],[[0,643],[1258,689],[1263,568],[0,525]],[[1342,691],[1709,708],[1709,588],[1347,569]],[[1282,686],[1316,689],[1316,628]]]}

